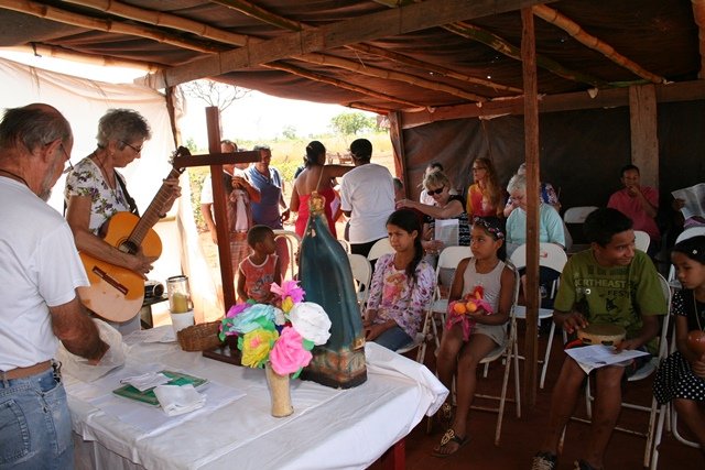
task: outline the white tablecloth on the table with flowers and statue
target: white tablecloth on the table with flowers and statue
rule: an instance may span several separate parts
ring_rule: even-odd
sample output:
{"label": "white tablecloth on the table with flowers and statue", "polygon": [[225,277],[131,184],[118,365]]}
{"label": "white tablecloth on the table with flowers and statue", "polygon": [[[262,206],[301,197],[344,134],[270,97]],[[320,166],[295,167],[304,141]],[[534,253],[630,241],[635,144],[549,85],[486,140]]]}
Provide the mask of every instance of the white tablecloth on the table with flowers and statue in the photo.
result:
{"label": "white tablecloth on the table with flowers and statue", "polygon": [[425,367],[375,343],[366,346],[366,383],[335,390],[292,381],[294,414],[274,418],[263,370],[184,352],[176,343],[134,345],[126,368],[160,363],[247,395],[163,431],[149,433],[90,404],[95,397],[86,396],[85,384],[66,376],[76,468],[367,468],[425,414],[435,413],[448,391]]}

